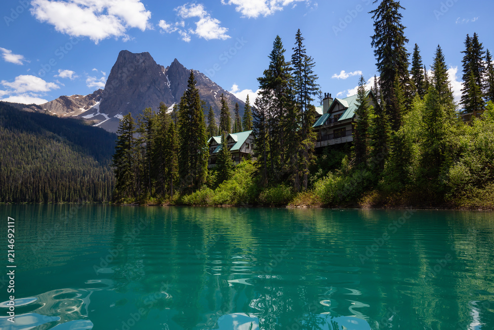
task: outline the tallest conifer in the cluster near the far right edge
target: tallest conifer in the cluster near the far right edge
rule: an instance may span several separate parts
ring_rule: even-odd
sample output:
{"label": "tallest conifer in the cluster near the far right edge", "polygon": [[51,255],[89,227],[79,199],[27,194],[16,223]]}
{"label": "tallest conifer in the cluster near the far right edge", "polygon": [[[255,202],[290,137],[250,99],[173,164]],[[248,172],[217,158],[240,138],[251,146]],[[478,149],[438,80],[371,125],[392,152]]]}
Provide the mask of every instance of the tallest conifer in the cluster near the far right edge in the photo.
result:
{"label": "tallest conifer in the cluster near the far right edge", "polygon": [[466,36],[463,56],[463,88],[461,89],[461,104],[465,112],[477,112],[484,109],[482,94],[483,80],[485,76],[484,47],[479,42],[478,36]]}

